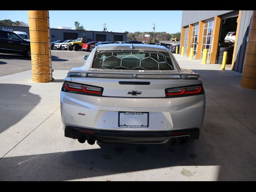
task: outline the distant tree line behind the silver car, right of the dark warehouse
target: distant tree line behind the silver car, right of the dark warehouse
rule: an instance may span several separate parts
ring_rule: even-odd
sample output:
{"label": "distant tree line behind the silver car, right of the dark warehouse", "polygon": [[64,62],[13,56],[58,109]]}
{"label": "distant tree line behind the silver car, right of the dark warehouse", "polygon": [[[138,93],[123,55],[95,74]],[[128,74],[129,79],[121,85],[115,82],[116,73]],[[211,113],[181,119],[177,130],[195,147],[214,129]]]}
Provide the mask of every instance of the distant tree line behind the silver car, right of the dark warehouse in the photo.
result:
{"label": "distant tree line behind the silver car, right of the dark warehouse", "polygon": [[[127,40],[137,40],[142,42],[153,42],[153,36],[154,32],[128,32],[125,31],[124,33],[127,33]],[[150,35],[150,37],[145,37],[145,35]],[[158,43],[160,41],[172,41],[176,39],[176,41],[180,41],[180,32],[177,33],[166,33],[166,32],[155,32],[155,38],[154,42]]]}

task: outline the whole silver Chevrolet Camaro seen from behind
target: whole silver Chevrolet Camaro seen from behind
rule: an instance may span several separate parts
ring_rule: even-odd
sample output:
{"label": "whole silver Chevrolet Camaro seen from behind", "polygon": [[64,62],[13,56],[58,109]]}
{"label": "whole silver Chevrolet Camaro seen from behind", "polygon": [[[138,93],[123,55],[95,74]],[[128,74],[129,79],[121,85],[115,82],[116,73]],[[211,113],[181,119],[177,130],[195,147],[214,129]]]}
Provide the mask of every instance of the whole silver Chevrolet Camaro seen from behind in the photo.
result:
{"label": "whole silver Chevrolet Camaro seen from behind", "polygon": [[68,72],[60,94],[66,137],[89,144],[199,138],[202,81],[181,69],[167,48],[104,44],[85,59],[84,66]]}

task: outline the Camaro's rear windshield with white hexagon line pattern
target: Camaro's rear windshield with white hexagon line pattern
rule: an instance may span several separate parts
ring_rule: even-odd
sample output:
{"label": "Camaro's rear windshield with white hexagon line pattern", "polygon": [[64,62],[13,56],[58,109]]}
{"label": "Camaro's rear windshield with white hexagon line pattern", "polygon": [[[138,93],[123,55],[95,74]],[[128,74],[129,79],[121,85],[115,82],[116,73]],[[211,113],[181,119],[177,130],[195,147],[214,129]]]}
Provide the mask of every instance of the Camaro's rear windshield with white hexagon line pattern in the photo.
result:
{"label": "Camaro's rear windshield with white hexagon line pattern", "polygon": [[174,70],[168,52],[157,51],[97,51],[92,68],[130,70]]}

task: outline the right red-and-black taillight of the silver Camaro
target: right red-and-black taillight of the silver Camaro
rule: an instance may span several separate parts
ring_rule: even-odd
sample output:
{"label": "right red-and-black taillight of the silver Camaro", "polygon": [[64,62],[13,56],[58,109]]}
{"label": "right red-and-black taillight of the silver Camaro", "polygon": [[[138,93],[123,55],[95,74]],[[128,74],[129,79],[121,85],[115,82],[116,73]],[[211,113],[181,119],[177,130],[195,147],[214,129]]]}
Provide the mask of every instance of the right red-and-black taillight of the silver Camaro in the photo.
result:
{"label": "right red-and-black taillight of the silver Camaro", "polygon": [[204,94],[204,88],[200,85],[169,88],[165,90],[166,97],[182,97]]}

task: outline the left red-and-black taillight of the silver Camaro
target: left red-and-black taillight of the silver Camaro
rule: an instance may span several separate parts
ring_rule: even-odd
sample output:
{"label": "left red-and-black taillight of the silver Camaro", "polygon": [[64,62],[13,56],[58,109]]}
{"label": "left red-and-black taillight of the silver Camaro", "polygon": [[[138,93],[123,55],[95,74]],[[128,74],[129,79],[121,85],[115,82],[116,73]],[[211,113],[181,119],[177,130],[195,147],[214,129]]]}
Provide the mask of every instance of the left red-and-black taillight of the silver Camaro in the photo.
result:
{"label": "left red-and-black taillight of the silver Camaro", "polygon": [[71,83],[71,82],[64,82],[61,90],[65,92],[85,94],[85,95],[97,95],[97,96],[102,96],[102,92],[103,92],[102,87]]}

